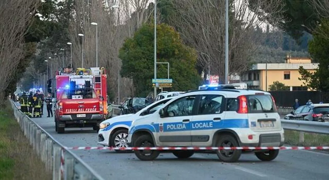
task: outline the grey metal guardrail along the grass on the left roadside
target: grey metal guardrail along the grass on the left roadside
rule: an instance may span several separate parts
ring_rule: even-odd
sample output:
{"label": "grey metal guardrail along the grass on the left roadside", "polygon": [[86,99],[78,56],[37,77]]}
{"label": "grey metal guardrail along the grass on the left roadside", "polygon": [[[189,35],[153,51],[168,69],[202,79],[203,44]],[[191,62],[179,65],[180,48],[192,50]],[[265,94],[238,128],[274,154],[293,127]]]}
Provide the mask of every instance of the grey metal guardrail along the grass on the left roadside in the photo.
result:
{"label": "grey metal guardrail along the grass on the left roadside", "polygon": [[104,180],[78,156],[22,113],[16,103],[11,101],[11,104],[21,130],[45,163],[46,169],[52,171],[53,180]]}

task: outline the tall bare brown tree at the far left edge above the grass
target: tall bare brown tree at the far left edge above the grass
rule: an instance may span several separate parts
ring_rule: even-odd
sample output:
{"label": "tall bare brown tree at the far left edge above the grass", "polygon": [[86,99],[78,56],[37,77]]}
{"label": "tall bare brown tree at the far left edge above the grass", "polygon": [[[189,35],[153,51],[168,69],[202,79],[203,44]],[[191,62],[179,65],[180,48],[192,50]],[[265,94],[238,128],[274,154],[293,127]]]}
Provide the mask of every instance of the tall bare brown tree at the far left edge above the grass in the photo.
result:
{"label": "tall bare brown tree at the far left edge above the grass", "polygon": [[31,25],[38,4],[38,0],[0,1],[1,98],[5,95],[5,89],[19,61],[24,58],[24,35]]}

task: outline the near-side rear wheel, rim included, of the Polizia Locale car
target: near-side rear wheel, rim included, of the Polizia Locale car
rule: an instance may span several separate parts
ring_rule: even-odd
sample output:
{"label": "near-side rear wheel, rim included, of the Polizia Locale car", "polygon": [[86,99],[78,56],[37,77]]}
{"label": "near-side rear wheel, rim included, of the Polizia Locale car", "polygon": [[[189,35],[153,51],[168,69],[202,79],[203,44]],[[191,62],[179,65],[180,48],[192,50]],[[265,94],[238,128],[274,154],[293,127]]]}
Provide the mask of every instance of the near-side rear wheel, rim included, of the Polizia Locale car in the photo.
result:
{"label": "near-side rear wheel, rim included, of the Polizia Locale car", "polygon": [[[217,147],[238,147],[238,141],[229,134],[219,135],[219,139],[216,143]],[[217,150],[216,151],[218,158],[224,162],[236,162],[239,160],[242,150]]]}

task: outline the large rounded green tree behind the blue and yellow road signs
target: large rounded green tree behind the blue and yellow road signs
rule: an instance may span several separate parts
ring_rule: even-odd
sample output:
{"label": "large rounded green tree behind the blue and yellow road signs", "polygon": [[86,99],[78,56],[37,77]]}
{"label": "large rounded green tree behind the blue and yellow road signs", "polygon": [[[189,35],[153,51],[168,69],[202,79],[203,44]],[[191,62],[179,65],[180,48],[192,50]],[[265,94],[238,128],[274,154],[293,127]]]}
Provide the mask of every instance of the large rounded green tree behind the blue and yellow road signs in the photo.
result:
{"label": "large rounded green tree behind the blue and yellow road signs", "polygon": [[[144,24],[133,36],[125,40],[119,52],[122,59],[121,76],[132,78],[135,94],[146,96],[152,91],[154,76],[154,25]],[[157,62],[169,62],[171,91],[196,89],[201,77],[195,69],[196,52],[182,43],[180,35],[167,24],[157,25]],[[163,66],[162,66],[163,65]],[[164,64],[157,66],[157,78],[166,78]]]}

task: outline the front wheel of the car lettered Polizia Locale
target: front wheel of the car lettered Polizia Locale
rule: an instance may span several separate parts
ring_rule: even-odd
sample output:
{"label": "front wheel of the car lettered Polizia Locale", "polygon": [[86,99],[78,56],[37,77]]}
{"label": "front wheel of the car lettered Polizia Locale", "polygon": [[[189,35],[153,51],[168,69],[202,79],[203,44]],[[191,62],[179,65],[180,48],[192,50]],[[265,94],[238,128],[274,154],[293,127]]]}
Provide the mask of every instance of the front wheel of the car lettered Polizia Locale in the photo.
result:
{"label": "front wheel of the car lettered Polizia Locale", "polygon": [[[150,135],[141,135],[135,141],[135,147],[154,147],[153,139]],[[157,150],[135,150],[135,155],[142,161],[152,161],[156,159],[160,152]]]}

